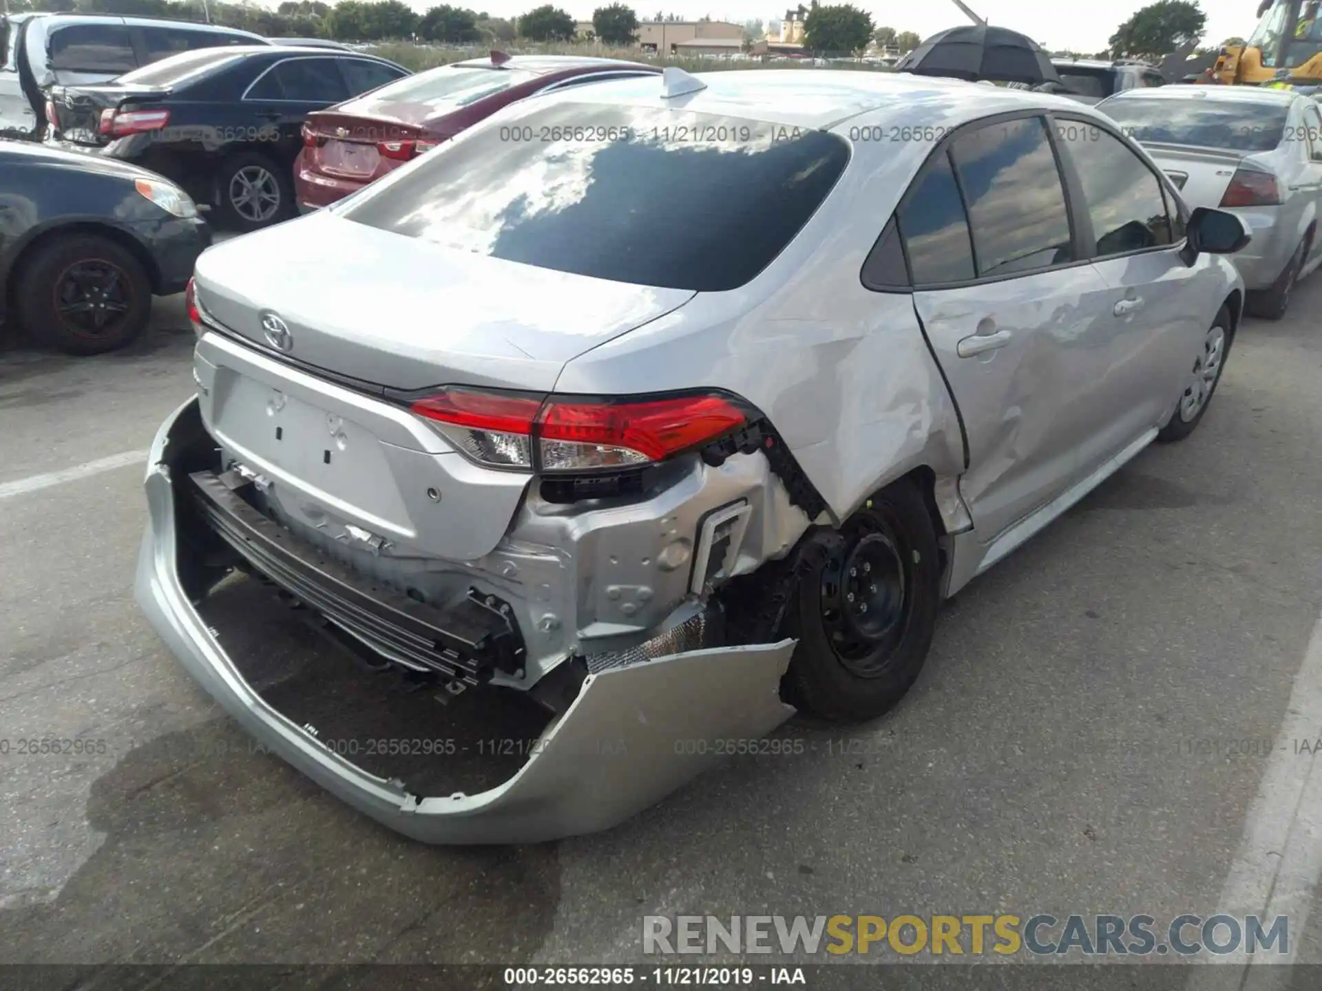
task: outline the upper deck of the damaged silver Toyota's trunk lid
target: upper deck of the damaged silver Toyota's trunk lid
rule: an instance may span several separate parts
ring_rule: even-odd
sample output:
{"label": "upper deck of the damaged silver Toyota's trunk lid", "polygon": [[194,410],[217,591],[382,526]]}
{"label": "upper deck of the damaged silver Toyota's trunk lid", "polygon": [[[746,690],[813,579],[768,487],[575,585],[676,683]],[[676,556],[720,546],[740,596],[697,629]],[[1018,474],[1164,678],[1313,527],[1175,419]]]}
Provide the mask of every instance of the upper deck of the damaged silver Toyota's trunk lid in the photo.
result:
{"label": "upper deck of the damaged silver Toyota's trunk lid", "polygon": [[697,293],[554,272],[346,221],[333,207],[210,248],[197,295],[221,325],[361,383],[549,391],[564,363]]}

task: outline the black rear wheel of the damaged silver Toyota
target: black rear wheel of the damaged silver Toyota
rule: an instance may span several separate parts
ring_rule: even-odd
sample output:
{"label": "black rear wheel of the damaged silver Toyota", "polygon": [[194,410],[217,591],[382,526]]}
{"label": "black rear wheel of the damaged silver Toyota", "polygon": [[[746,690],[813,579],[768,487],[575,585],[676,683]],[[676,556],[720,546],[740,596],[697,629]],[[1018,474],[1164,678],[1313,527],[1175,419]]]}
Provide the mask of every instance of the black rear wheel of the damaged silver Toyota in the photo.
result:
{"label": "black rear wheel of the damaged silver Toyota", "polygon": [[[936,628],[941,563],[932,519],[908,481],[874,495],[841,535],[845,550],[801,580],[789,604],[785,636],[798,646],[783,692],[804,712],[853,723],[883,715],[917,679]],[[862,564],[883,581],[863,585]],[[903,583],[898,600],[892,567]],[[850,568],[859,573],[850,577]],[[853,605],[849,587],[859,589]],[[880,595],[866,591],[878,587]],[[873,618],[859,605],[870,605]]]}

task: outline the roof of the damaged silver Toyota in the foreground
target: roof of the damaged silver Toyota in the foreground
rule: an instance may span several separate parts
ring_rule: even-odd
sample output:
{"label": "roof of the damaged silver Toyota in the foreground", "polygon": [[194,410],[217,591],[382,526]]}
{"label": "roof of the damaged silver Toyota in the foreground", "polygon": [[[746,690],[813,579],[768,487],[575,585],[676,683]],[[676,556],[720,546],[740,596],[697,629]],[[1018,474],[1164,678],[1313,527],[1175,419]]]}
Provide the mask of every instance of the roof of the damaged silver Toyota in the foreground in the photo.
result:
{"label": "roof of the damaged silver Toyota in the foreground", "polygon": [[538,99],[665,106],[817,129],[873,111],[878,112],[876,123],[888,118],[917,118],[947,127],[1015,110],[1092,114],[1091,107],[1046,92],[866,69],[715,71],[698,73],[694,78],[706,89],[672,99],[662,96],[662,85],[654,77],[600,82]]}

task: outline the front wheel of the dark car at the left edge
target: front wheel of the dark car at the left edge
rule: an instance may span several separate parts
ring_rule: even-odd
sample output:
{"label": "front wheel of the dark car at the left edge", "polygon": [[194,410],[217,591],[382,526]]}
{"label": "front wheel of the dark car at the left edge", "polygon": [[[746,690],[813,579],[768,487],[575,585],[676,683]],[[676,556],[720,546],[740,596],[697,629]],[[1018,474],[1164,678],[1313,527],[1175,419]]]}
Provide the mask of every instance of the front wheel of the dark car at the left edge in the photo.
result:
{"label": "front wheel of the dark car at the left edge", "polygon": [[151,318],[152,285],[143,263],[110,238],[57,235],[20,266],[15,309],[38,345],[102,354],[127,345]]}

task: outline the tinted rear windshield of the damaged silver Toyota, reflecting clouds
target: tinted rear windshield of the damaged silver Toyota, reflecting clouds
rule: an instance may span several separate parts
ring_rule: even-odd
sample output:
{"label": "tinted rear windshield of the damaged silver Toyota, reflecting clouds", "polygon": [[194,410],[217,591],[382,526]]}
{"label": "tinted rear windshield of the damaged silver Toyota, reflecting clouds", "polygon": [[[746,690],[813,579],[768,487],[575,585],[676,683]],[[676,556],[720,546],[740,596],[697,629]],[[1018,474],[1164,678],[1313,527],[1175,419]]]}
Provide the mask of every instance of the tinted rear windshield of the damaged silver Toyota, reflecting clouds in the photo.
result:
{"label": "tinted rear windshield of the damaged silver Toyota, reflecting clouds", "polygon": [[531,103],[369,188],[342,215],[559,272],[722,292],[780,254],[847,161],[845,141],[822,131]]}

